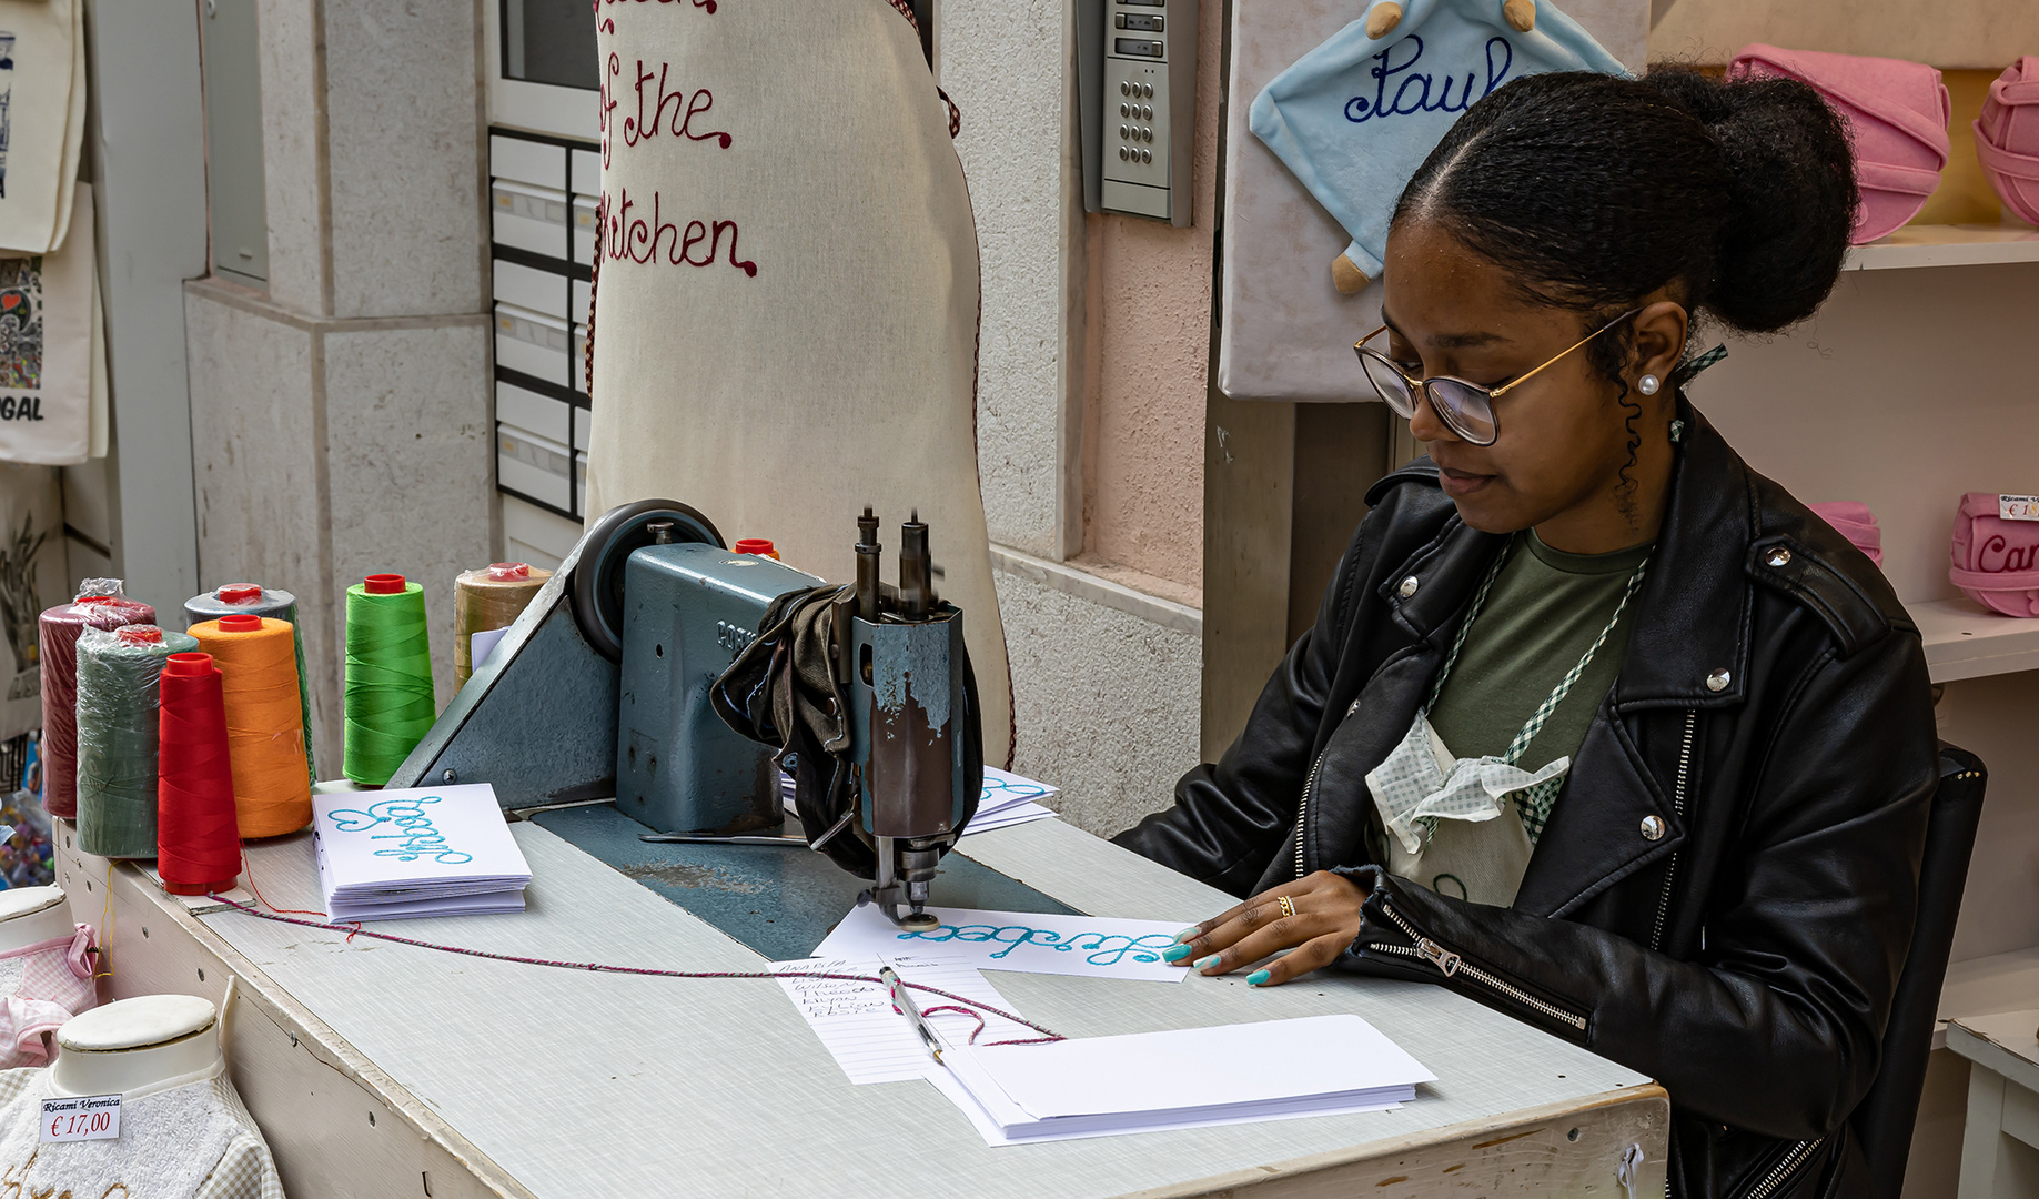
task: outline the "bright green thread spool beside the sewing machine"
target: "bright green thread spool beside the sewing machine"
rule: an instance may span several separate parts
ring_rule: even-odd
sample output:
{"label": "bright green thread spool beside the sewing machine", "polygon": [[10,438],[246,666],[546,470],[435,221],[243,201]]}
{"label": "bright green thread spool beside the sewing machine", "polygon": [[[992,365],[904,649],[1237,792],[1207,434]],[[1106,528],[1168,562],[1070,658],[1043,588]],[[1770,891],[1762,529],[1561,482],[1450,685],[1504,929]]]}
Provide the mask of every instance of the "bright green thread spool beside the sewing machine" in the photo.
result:
{"label": "bright green thread spool beside the sewing machine", "polygon": [[438,720],[424,587],[369,575],[347,589],[347,742],[343,771],[381,787]]}

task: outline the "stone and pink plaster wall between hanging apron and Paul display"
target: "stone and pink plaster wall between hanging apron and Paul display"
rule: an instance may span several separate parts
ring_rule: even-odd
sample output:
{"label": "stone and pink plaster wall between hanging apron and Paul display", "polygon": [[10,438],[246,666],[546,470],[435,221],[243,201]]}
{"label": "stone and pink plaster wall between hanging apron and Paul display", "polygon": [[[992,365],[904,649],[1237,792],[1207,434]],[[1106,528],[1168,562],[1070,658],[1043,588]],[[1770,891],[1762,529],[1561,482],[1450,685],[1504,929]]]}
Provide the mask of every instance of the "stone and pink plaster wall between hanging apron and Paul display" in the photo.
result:
{"label": "stone and pink plaster wall between hanging apron and Paul display", "polygon": [[1199,35],[1191,228],[1083,212],[1073,16],[942,0],[938,65],[983,261],[979,471],[1013,769],[1111,834],[1197,763],[1221,6]]}

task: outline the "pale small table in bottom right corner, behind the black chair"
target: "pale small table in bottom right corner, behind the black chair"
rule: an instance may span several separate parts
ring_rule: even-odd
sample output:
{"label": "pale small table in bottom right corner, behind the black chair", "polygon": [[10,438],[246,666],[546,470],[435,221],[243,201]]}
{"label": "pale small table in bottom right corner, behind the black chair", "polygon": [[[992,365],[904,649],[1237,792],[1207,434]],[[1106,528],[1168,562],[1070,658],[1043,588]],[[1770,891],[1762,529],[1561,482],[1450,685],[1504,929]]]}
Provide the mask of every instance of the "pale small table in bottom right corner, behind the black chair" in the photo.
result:
{"label": "pale small table in bottom right corner, behind the black chair", "polygon": [[1970,1062],[1959,1199],[2039,1195],[2039,1011],[1964,1015],[1947,1048]]}

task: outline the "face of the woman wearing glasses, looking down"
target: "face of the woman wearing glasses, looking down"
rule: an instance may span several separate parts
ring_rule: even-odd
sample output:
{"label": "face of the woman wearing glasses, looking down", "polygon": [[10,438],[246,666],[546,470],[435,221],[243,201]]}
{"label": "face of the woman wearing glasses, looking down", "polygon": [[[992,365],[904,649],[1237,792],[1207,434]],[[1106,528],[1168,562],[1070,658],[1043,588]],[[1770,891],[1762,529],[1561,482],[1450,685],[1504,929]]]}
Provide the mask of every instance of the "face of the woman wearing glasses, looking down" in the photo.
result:
{"label": "face of the woman wearing glasses, looking down", "polygon": [[[1597,328],[1578,312],[1519,298],[1499,265],[1466,249],[1440,224],[1413,216],[1389,232],[1384,292],[1380,318],[1389,324],[1387,355],[1413,379],[1454,375],[1499,387]],[[1678,347],[1670,351],[1660,377],[1682,349],[1684,312],[1676,312]],[[1615,332],[1619,330],[1603,336]],[[1643,357],[1652,357],[1645,330],[1637,328],[1637,341]],[[1631,463],[1631,432],[1645,445],[1652,436],[1666,438],[1672,389],[1641,396],[1631,385],[1621,402],[1621,389],[1592,369],[1588,349],[1592,347],[1572,351],[1497,398],[1497,438],[1491,447],[1460,440],[1427,400],[1417,404],[1409,428],[1437,463],[1444,491],[1458,504],[1466,524],[1482,532],[1556,524],[1556,530],[1572,532],[1566,540],[1574,542],[1560,549],[1576,553],[1623,549],[1656,532],[1660,506],[1637,514],[1633,491],[1639,487],[1623,481],[1623,467]],[[1639,363],[1635,375],[1650,365]],[[1668,447],[1650,457],[1662,457],[1668,479]],[[1654,473],[1658,471],[1627,471],[1637,485],[1648,485],[1643,475]],[[1639,528],[1641,524],[1648,528]],[[1613,544],[1601,544],[1607,538]]]}

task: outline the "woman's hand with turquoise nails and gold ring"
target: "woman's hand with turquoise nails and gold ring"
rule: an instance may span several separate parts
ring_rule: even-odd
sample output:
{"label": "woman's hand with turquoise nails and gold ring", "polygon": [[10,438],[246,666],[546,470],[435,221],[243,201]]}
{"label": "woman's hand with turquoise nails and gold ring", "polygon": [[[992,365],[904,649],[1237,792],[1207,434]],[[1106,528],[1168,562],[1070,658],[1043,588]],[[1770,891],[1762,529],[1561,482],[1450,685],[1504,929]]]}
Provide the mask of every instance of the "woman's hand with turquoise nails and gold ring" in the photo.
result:
{"label": "woman's hand with turquoise nails and gold ring", "polygon": [[[1293,916],[1283,911],[1283,897],[1289,899]],[[1317,871],[1307,879],[1262,891],[1197,928],[1185,928],[1187,940],[1162,956],[1205,975],[1230,975],[1280,950],[1293,950],[1246,977],[1254,987],[1274,987],[1338,960],[1338,954],[1360,936],[1364,901],[1366,891],[1358,883]]]}

